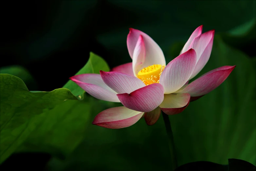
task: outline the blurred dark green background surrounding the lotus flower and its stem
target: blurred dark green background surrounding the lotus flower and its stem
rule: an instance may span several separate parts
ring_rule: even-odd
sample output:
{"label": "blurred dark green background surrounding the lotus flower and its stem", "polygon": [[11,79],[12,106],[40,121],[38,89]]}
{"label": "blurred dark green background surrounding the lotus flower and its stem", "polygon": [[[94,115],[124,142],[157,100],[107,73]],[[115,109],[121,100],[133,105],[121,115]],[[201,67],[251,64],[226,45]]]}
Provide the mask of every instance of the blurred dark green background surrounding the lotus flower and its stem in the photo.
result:
{"label": "blurred dark green background surrounding the lotus flower and its stem", "polygon": [[[210,60],[197,77],[220,66],[237,67],[217,89],[170,116],[178,164],[228,164],[229,158],[256,164],[255,0],[17,1],[2,7],[0,71],[20,77],[30,91],[63,87],[90,52],[110,68],[131,62],[126,46],[130,27],[151,36],[167,63],[178,56],[195,28],[215,29]],[[83,102],[72,105],[77,110],[70,113],[81,116],[81,130],[71,129],[77,120],[44,133],[38,128],[0,168],[17,163],[37,170],[169,170],[162,116],[153,126],[141,119],[112,130],[91,122],[117,104],[86,94]],[[81,131],[79,137],[56,138],[66,127],[70,134]]]}

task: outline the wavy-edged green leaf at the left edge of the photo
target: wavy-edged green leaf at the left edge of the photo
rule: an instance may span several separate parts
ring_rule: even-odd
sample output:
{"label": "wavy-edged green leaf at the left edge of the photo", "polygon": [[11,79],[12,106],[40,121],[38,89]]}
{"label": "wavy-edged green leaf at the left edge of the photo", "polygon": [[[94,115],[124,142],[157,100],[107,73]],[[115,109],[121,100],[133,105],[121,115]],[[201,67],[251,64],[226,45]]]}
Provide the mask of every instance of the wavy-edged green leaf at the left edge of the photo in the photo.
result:
{"label": "wavy-edged green leaf at the left edge of the photo", "polygon": [[68,89],[31,93],[18,77],[0,74],[0,163],[26,140],[37,122],[31,118],[65,100],[77,99]]}

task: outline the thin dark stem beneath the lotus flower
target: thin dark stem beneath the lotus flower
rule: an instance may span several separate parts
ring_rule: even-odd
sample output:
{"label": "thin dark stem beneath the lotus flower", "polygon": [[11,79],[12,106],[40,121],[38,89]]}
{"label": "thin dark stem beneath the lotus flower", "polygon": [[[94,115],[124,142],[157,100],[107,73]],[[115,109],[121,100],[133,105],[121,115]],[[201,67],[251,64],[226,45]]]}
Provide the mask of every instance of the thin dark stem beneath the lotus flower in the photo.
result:
{"label": "thin dark stem beneath the lotus flower", "polygon": [[169,145],[169,149],[171,152],[172,170],[175,170],[177,167],[177,160],[176,160],[176,155],[175,155],[173,131],[172,131],[171,123],[169,120],[169,116],[167,114],[165,114],[163,111],[162,111],[162,115],[164,118],[166,133],[168,135],[168,145]]}

